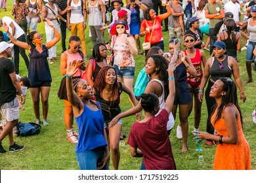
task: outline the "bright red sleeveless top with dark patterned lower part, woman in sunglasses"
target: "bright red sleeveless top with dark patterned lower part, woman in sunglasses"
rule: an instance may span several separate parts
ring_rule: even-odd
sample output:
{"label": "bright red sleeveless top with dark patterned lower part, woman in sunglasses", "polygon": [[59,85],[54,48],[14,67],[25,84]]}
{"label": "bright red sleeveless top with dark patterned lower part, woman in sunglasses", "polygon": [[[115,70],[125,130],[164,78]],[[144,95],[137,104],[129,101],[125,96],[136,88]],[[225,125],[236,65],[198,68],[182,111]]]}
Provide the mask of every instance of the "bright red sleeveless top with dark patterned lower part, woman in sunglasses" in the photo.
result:
{"label": "bright red sleeveless top with dark patterned lower part, woman in sunglasses", "polygon": [[[200,50],[196,50],[196,56],[194,58],[190,58],[192,64],[194,65],[196,72],[198,73],[198,76],[194,77],[190,75],[188,69],[186,70],[187,79],[186,82],[190,84],[190,86],[198,87],[201,83],[202,77],[203,77],[203,71],[202,71],[202,59],[200,55]],[[186,53],[186,50],[183,51],[185,53],[185,56],[188,54]]]}

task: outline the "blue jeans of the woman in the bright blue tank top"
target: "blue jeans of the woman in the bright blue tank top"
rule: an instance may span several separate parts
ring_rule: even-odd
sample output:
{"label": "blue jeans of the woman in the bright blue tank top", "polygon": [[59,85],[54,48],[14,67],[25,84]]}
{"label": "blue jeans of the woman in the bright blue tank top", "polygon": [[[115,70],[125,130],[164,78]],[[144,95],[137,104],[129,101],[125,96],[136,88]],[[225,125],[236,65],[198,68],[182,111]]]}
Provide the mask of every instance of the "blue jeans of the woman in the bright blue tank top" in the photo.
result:
{"label": "blue jeans of the woman in the bright blue tank top", "polygon": [[[98,163],[106,157],[105,148],[97,150],[76,152],[76,159],[80,170],[96,170]],[[108,164],[103,168],[108,170]]]}

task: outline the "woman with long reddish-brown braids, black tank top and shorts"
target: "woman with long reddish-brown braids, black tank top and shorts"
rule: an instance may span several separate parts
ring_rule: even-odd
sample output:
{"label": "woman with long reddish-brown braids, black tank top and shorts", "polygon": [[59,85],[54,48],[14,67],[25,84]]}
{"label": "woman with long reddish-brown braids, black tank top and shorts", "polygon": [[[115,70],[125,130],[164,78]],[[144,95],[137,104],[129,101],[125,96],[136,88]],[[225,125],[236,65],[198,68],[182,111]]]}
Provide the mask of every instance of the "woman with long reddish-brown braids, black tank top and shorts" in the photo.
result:
{"label": "woman with long reddish-brown braids, black tank top and shorts", "polygon": [[[105,66],[100,69],[93,85],[96,94],[96,101],[100,103],[102,114],[104,116],[105,130],[108,137],[108,144],[112,152],[112,161],[114,169],[118,169],[120,161],[119,139],[121,135],[120,119],[116,125],[109,127],[108,123],[121,113],[120,95],[125,92],[133,106],[137,105],[135,95],[125,84],[117,82],[116,69],[112,66]],[[139,114],[137,114],[138,116]],[[139,116],[138,116],[139,117]]]}

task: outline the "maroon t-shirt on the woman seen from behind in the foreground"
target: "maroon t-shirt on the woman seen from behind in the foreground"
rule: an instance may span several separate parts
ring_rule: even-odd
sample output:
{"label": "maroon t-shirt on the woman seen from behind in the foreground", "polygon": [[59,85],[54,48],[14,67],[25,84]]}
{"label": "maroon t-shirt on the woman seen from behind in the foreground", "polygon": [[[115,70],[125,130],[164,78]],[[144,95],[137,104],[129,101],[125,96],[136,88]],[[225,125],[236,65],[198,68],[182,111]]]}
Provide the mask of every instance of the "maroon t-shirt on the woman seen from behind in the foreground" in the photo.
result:
{"label": "maroon t-shirt on the woman seen from behind in the foreground", "polygon": [[141,150],[147,170],[176,169],[166,128],[168,120],[169,113],[163,109],[158,116],[147,122],[135,122],[131,127],[127,143]]}

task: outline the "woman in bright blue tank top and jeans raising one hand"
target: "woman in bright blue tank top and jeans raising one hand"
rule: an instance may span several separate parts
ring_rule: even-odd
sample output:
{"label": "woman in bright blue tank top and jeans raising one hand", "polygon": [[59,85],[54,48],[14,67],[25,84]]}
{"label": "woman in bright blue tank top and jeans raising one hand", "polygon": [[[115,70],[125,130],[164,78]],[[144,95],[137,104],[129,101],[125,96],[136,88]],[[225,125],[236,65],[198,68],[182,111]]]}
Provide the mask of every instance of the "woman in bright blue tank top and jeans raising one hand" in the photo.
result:
{"label": "woman in bright blue tank top and jeans raising one hand", "polygon": [[92,101],[93,88],[86,80],[74,79],[83,61],[72,61],[66,71],[68,101],[72,104],[79,130],[75,154],[79,169],[108,169],[110,154],[104,131],[104,118],[98,102]]}

